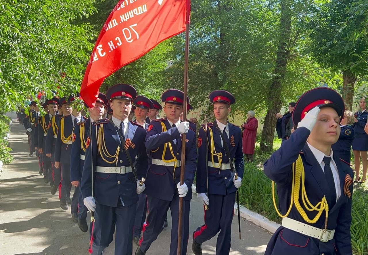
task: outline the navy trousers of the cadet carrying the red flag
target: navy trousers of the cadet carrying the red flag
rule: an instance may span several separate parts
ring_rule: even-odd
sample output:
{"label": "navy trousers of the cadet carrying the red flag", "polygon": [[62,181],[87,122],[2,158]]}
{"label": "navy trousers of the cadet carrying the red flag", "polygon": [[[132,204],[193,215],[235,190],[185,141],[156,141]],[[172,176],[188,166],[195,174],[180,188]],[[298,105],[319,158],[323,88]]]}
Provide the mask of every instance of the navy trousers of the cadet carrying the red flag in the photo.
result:
{"label": "navy trousers of the cadet carrying the red flag", "polygon": [[[156,197],[148,196],[148,216],[147,225],[143,230],[142,237],[139,240],[139,246],[142,252],[146,252],[153,241],[163,230],[163,224],[167,215],[167,210],[171,211],[172,227],[171,227],[171,243],[170,254],[177,254],[178,245],[178,219],[179,219],[179,194],[174,194],[172,201],[161,200]],[[189,212],[190,200],[183,201],[183,221],[182,221],[182,240],[181,254],[187,254],[188,237],[189,237]],[[165,253],[165,252],[164,252]]]}

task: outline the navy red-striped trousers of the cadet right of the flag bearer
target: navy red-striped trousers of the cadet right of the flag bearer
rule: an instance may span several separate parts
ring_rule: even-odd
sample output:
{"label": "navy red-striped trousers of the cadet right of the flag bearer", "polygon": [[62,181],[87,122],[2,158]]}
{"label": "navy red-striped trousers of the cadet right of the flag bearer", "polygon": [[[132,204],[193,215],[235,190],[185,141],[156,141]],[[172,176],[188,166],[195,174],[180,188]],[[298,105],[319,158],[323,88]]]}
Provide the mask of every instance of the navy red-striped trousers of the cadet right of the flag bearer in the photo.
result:
{"label": "navy red-striped trousers of the cadet right of the flag bearer", "polygon": [[231,247],[231,223],[234,216],[235,192],[226,195],[208,194],[209,205],[205,211],[205,225],[194,232],[194,240],[202,244],[220,231],[216,254],[229,254]]}

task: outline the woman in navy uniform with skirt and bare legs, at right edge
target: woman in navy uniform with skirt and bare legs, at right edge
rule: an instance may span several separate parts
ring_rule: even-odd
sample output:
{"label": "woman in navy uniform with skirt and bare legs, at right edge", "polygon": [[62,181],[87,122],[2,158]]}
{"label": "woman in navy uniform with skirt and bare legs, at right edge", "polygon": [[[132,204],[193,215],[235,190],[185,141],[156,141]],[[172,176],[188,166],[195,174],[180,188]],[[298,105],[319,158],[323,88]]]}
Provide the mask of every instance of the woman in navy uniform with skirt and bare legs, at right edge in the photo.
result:
{"label": "woman in navy uniform with skirt and bare legs, at right edge", "polygon": [[[367,177],[367,169],[368,169],[368,159],[367,159],[367,151],[368,151],[368,135],[364,131],[365,124],[367,124],[367,103],[365,102],[365,98],[361,98],[359,102],[360,111],[354,113],[354,132],[355,138],[353,141],[353,145],[351,148],[354,152],[354,167],[355,167],[355,182],[364,183],[365,178]],[[360,176],[360,157],[362,157],[363,163],[363,177]],[[360,179],[362,179],[360,181]]]}

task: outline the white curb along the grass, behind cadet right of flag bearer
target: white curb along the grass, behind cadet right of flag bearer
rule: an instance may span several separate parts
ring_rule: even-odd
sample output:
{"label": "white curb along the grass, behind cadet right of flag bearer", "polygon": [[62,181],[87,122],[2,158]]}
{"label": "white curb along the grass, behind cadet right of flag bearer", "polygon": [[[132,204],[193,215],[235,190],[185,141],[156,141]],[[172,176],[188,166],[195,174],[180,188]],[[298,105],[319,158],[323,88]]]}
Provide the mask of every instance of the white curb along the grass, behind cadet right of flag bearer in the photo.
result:
{"label": "white curb along the grass, behind cadet right of flag bearer", "polygon": [[[193,184],[192,185],[192,193],[197,193],[197,187]],[[275,233],[276,229],[281,226],[280,224],[277,224],[276,222],[270,221],[265,216],[262,216],[260,214],[257,214],[256,212],[250,211],[248,208],[241,206],[239,208],[240,211],[240,217],[246,219],[247,221],[250,221],[254,223],[257,226],[263,227],[264,229],[268,230],[271,233]],[[238,205],[237,203],[234,204],[234,213],[238,215]]]}

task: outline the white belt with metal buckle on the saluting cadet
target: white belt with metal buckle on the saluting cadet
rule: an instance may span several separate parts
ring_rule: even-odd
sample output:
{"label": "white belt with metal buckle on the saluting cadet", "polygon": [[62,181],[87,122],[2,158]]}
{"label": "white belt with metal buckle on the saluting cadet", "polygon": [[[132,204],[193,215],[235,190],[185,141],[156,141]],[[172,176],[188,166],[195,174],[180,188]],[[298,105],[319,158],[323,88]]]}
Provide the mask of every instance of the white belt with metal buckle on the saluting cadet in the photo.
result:
{"label": "white belt with metal buckle on the saluting cadet", "polygon": [[294,230],[300,234],[317,238],[323,243],[327,243],[329,240],[332,240],[335,234],[335,229],[319,229],[318,227],[312,227],[311,225],[307,225],[290,218],[283,218],[282,226],[286,227],[287,229]]}

